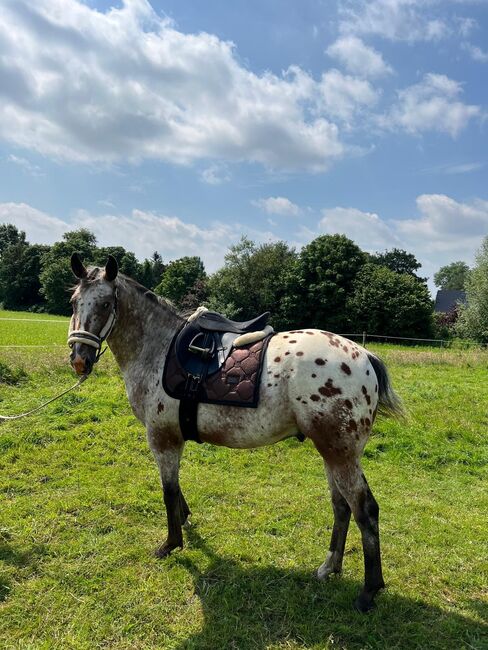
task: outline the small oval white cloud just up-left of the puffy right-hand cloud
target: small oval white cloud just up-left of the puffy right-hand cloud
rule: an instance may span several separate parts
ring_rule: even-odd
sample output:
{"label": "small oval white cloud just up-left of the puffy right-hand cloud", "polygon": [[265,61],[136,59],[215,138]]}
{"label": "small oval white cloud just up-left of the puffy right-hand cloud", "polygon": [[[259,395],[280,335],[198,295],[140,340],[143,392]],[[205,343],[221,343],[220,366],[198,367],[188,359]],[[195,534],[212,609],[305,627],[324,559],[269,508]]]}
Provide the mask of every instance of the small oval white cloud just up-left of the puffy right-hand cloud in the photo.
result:
{"label": "small oval white cloud just up-left of the puffy right-hand cloud", "polygon": [[326,52],[345,66],[348,72],[360,77],[382,77],[393,72],[381,53],[363,43],[357,36],[339,38]]}

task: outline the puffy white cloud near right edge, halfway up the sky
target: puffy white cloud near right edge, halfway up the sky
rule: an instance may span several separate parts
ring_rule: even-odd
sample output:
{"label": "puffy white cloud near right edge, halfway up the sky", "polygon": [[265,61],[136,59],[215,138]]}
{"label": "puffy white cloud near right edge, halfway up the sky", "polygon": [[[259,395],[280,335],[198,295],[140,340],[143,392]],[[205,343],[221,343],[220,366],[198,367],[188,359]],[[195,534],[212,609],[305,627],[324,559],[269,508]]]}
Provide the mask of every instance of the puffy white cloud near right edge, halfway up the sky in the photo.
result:
{"label": "puffy white cloud near right edge, halfway up the sky", "polygon": [[441,131],[456,137],[479,106],[459,101],[461,84],[445,75],[428,73],[421,82],[398,92],[398,102],[379,123],[387,128],[402,128],[409,133]]}

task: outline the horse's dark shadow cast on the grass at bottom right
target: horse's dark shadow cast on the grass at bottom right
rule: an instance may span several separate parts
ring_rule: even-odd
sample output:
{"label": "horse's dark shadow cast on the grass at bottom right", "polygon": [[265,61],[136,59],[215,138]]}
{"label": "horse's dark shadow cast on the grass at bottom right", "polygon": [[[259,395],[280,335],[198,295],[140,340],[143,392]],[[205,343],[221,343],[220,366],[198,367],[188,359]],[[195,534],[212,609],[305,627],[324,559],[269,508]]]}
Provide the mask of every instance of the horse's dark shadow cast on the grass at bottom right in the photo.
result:
{"label": "horse's dark shadow cast on the grass at bottom right", "polygon": [[243,568],[218,556],[195,530],[192,548],[210,565],[200,572],[184,555],[175,561],[191,573],[204,615],[202,630],[178,650],[274,647],[486,648],[488,628],[456,613],[387,591],[368,615],[352,607],[360,583],[321,582],[311,573],[273,567]]}

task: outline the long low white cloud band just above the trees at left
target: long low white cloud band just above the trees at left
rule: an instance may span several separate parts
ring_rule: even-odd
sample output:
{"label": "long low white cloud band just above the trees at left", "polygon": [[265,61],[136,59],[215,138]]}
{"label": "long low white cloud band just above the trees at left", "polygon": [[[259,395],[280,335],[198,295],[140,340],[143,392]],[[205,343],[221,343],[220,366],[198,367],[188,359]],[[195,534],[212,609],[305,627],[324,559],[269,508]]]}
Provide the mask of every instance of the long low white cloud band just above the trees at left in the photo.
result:
{"label": "long low white cloud band just above the trees at left", "polygon": [[132,210],[130,214],[93,215],[79,211],[70,222],[52,217],[25,203],[0,203],[0,223],[12,223],[24,230],[31,243],[52,244],[63,233],[88,228],[100,246],[124,246],[139,259],[158,250],[165,261],[185,255],[199,255],[207,271],[213,272],[224,262],[228,246],[241,234],[257,242],[275,239],[272,233],[249,229],[239,223],[232,226],[212,222],[204,228],[178,217]]}

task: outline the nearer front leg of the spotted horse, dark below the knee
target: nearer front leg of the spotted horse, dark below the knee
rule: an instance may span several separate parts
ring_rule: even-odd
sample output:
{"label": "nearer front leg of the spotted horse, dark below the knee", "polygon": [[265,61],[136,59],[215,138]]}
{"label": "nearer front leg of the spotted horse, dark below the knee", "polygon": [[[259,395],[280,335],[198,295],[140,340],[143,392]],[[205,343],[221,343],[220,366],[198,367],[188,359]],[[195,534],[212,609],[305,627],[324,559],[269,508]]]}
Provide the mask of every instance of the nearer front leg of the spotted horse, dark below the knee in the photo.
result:
{"label": "nearer front leg of the spotted horse, dark below the knee", "polygon": [[182,525],[190,514],[179,483],[183,444],[179,441],[170,442],[161,434],[150,431],[148,431],[148,441],[158,464],[168,518],[168,537],[155,551],[157,557],[164,558],[175,548],[183,548]]}

